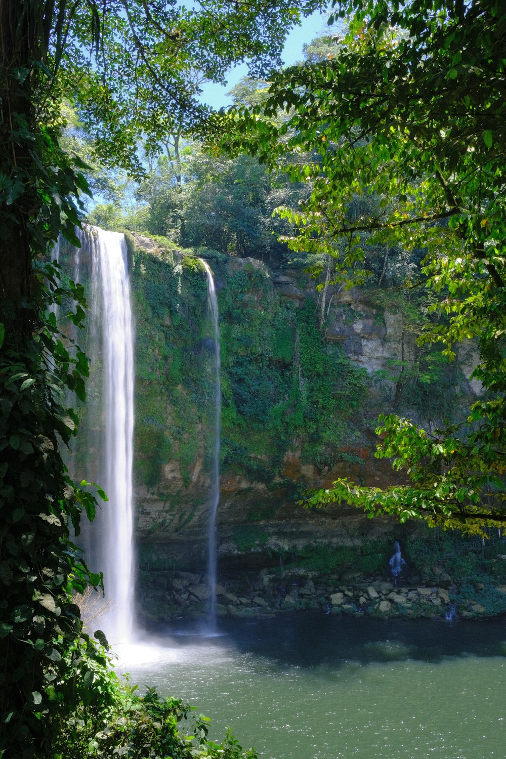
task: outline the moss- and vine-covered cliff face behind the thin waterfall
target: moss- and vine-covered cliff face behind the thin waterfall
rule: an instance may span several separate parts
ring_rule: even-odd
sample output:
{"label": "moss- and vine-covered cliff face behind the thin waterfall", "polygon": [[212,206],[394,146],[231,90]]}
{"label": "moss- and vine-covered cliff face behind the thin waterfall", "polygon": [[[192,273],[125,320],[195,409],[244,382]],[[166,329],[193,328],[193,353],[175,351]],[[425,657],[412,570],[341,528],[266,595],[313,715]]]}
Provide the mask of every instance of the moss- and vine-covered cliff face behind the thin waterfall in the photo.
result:
{"label": "moss- and vine-covered cliff face behind the thin waterfall", "polygon": [[[206,276],[195,257],[138,235],[129,246],[140,565],[195,569],[205,566],[213,449]],[[463,396],[479,392],[467,379],[472,346],[449,365],[420,353],[414,307],[382,291],[318,292],[297,270],[272,272],[251,258],[208,261],[221,328],[223,571],[308,546],[405,536],[406,528],[350,509],[307,512],[297,499],[336,477],[391,482],[388,462],[373,455],[377,415],[395,410],[437,425],[458,414]]]}

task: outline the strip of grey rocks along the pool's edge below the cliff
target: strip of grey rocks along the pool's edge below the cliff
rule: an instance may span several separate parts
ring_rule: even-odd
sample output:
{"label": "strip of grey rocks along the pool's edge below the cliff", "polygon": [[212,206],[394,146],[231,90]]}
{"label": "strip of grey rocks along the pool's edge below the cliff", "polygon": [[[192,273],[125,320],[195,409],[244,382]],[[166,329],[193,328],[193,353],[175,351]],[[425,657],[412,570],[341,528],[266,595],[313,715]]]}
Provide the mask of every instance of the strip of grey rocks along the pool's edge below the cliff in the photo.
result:
{"label": "strip of grey rocks along the pool's edge below the cliff", "polygon": [[[143,575],[138,606],[146,622],[209,613],[212,591],[205,575],[178,571]],[[397,583],[386,578],[344,582],[303,569],[283,573],[262,569],[216,585],[217,616],[254,617],[297,610],[406,619],[485,619],[506,612],[506,585],[459,586],[442,581],[426,586],[409,578],[399,578]]]}

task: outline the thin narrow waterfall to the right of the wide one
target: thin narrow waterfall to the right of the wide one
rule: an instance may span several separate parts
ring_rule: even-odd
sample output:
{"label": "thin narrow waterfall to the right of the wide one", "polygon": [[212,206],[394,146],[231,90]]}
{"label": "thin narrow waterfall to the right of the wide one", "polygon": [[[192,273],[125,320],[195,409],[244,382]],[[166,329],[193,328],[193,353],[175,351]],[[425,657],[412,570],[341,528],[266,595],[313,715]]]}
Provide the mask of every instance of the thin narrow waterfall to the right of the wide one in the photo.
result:
{"label": "thin narrow waterfall to the right of the wide one", "polygon": [[220,340],[218,321],[218,301],[216,299],[215,282],[209,265],[202,258],[207,274],[207,303],[214,329],[215,356],[215,415],[214,415],[214,450],[212,460],[211,499],[209,503],[209,533],[208,533],[208,582],[211,590],[209,599],[209,625],[212,629],[216,624],[216,515],[219,502],[219,450],[220,450],[220,420],[222,416],[222,386],[220,383]]}

